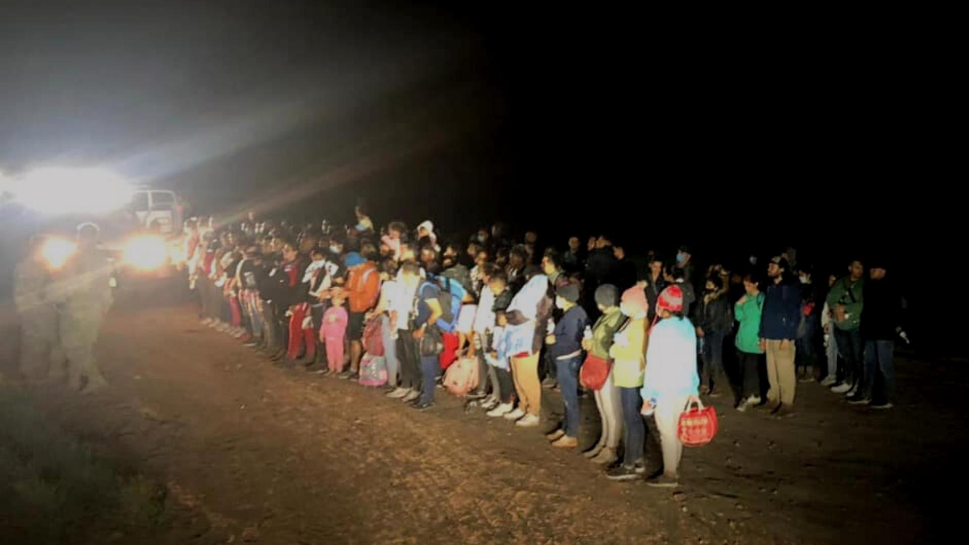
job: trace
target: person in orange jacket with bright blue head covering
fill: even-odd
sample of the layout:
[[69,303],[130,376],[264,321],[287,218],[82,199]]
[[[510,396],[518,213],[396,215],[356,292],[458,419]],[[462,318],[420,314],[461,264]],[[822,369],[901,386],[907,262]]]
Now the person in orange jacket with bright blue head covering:
[[343,260],[347,266],[345,293],[350,309],[347,339],[350,341],[350,369],[340,378],[359,377],[360,358],[363,356],[363,318],[377,304],[380,297],[380,272],[372,261],[357,252],[350,252]]

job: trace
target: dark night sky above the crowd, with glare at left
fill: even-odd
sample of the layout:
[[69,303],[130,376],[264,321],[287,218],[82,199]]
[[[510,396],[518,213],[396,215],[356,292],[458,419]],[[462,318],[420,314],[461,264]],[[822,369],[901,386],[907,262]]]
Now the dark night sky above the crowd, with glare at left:
[[378,223],[732,255],[928,258],[964,231],[953,76],[905,41],[590,6],[81,4],[0,3],[0,170],[103,163],[203,211],[349,221],[363,198]]

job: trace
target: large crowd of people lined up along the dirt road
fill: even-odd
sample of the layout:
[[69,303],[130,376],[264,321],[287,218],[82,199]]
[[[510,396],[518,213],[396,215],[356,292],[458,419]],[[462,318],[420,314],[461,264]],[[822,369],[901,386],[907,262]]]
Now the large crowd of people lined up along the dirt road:
[[744,271],[701,270],[686,246],[641,259],[600,235],[560,251],[536,232],[513,240],[500,223],[443,240],[431,221],[377,230],[356,214],[344,229],[187,221],[203,324],[277,365],[385,386],[417,410],[434,407],[446,373],[460,374],[474,378],[457,393],[488,417],[534,428],[543,388],[557,390],[555,448],[578,447],[578,401],[591,395],[602,433],[583,455],[611,479],[646,477],[651,417],[664,465],[648,476],[654,486],[677,485],[677,422],[701,396],[783,418],[801,381],[892,406],[905,304],[882,262],[865,274],[853,261],[822,287],[790,248]]

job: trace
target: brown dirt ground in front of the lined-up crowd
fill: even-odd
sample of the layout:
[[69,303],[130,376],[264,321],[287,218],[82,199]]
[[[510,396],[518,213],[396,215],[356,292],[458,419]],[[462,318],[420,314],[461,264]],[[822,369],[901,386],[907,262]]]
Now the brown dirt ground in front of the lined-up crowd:
[[[103,394],[32,396],[64,429],[167,483],[177,508],[153,543],[925,543],[954,526],[950,498],[967,480],[956,406],[969,368],[953,362],[900,358],[890,411],[817,384],[798,385],[784,420],[713,400],[721,431],[686,450],[671,491],[611,482],[548,447],[541,432],[561,413],[549,391],[539,430],[440,390],[436,408],[417,412],[273,367],[189,305],[113,310],[97,353]],[[591,396],[582,409],[584,448],[598,433]]]

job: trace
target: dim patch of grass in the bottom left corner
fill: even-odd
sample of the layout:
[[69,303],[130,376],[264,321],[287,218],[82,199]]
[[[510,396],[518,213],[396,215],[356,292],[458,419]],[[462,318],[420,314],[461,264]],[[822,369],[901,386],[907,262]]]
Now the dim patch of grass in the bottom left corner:
[[164,486],[119,471],[0,386],[0,543],[143,541],[167,525],[166,500]]

